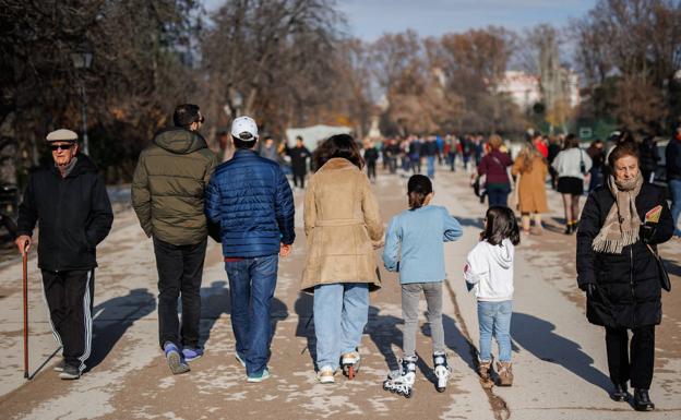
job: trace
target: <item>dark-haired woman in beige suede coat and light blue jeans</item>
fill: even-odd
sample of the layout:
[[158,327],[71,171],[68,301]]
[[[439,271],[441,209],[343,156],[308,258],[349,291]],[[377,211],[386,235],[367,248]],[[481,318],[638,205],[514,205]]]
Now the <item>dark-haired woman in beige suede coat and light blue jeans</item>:
[[339,360],[350,379],[359,368],[369,291],[381,287],[373,250],[382,245],[383,223],[351,136],[330,137],[313,159],[318,172],[304,199],[301,289],[314,293],[318,379],[333,383]]

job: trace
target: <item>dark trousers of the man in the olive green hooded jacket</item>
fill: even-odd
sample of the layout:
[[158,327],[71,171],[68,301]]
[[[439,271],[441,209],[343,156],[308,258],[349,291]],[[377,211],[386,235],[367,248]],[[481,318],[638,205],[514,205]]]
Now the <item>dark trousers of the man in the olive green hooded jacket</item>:
[[[199,346],[205,249],[205,239],[193,245],[174,245],[154,238],[158,269],[158,343],[162,348],[166,341],[190,348]],[[178,298],[182,300],[181,339]]]

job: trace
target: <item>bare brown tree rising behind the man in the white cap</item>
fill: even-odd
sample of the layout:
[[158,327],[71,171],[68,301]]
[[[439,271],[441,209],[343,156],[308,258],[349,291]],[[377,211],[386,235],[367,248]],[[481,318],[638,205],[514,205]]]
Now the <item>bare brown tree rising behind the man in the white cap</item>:
[[216,104],[256,115],[272,131],[306,123],[325,101],[336,27],[328,0],[227,0],[202,43]]

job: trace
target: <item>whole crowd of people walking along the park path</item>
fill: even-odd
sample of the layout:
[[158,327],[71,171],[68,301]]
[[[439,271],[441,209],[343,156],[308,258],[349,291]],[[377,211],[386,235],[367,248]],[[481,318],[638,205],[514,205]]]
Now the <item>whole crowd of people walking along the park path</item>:
[[[216,156],[200,133],[204,117],[198,106],[178,106],[172,120],[174,127],[157,132],[140,155],[132,205],[153,240],[158,344],[174,374],[190,371],[190,363],[203,356],[200,288],[210,236],[222,243],[229,280],[235,359],[248,382],[270,376],[278,262],[290,254],[296,239],[294,193],[283,165],[289,163],[294,187],[304,190],[308,247],[300,289],[314,299],[318,380],[334,383],[338,370],[353,379],[359,370],[369,293],[381,288],[374,250],[384,248],[385,268],[399,273],[405,328],[399,368],[383,387],[407,397],[411,393],[422,293],[437,388],[444,391],[450,368],[442,325],[443,247],[461,238],[463,229],[445,207],[430,202],[437,168],[455,171],[461,157],[489,203],[483,230],[463,268],[478,301],[478,374],[483,386],[492,385],[494,368],[499,385],[513,383],[513,263],[521,228],[511,207],[521,214],[524,235],[541,233],[550,175],[549,188],[563,199],[565,233],[577,232],[577,284],[587,296],[587,319],[606,328],[611,396],[624,399],[631,383],[635,408],[654,408],[648,389],[665,287],[656,245],[680,236],[681,129],[666,149],[670,212],[662,190],[650,183],[658,160],[655,142],[645,137],[637,143],[629,132],[607,152],[600,141],[583,151],[573,134],[547,139],[533,132],[514,158],[497,134],[487,140],[409,135],[370,141],[363,151],[353,136],[338,134],[311,153],[301,137],[294,147],[277,145],[272,137],[261,144],[255,121],[239,117],[228,133],[218,134],[222,156]],[[62,379],[73,380],[91,355],[95,250],[109,233],[113,215],[95,165],[79,151],[77,135],[57,130],[47,143],[52,163],[29,180],[16,247],[25,254],[40,225],[38,266],[50,324],[63,347],[57,370]],[[386,231],[371,187],[381,157],[389,172],[410,175],[406,209],[390,220]],[[310,167],[314,172],[307,180]],[[580,215],[585,183],[590,194]],[[511,192],[515,203],[509,203]],[[631,343],[628,331],[633,332]],[[499,346],[495,367],[492,338]]]

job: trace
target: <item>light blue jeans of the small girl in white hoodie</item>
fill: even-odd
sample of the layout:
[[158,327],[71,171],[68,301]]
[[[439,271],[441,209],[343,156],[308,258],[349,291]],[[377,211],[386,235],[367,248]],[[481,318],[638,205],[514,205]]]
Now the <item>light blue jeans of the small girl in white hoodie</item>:
[[478,301],[478,323],[480,325],[480,360],[492,359],[492,336],[499,345],[499,361],[511,361],[511,314],[513,301]]

